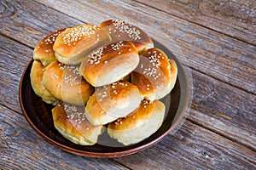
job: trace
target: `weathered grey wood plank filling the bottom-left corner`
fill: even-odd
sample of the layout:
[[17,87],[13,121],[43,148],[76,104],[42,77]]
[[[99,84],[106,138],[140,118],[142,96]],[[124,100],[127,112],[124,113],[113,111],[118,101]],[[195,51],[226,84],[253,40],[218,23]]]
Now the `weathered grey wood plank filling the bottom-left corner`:
[[127,169],[112,159],[76,156],[38,136],[25,117],[0,105],[0,169]]

